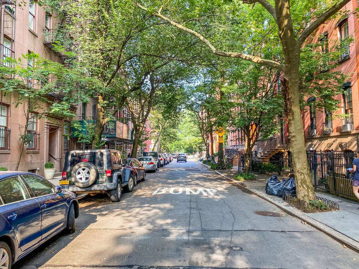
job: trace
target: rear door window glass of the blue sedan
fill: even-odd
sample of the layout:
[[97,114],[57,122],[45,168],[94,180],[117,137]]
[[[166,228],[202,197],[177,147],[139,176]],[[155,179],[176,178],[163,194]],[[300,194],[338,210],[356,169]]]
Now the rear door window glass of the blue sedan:
[[25,185],[18,176],[0,181],[0,196],[4,203],[13,203],[30,198]]

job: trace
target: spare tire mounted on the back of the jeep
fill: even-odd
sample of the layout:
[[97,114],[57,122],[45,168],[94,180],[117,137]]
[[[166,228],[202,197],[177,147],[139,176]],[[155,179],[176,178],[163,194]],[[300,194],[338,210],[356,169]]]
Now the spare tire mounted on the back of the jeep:
[[72,168],[71,181],[79,188],[87,188],[96,182],[97,175],[95,165],[91,162],[83,161]]

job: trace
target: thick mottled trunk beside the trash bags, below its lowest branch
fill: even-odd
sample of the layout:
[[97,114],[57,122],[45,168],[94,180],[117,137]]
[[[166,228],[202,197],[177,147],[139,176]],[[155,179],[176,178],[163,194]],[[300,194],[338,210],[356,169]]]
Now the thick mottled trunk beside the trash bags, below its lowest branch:
[[305,149],[298,82],[299,65],[294,64],[293,66],[289,72],[286,72],[286,78],[283,79],[282,93],[288,120],[290,152],[292,154],[297,197],[309,202],[315,200],[315,193]]

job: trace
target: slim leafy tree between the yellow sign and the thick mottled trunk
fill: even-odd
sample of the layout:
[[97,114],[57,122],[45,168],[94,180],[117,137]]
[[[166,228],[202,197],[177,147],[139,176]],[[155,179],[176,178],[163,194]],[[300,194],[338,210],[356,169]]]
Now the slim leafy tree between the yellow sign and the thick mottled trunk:
[[276,116],[282,116],[283,99],[278,89],[280,73],[272,68],[248,63],[233,67],[229,84],[223,91],[229,93],[231,109],[224,112],[230,118],[233,131],[242,131],[246,137],[245,173],[250,168],[250,157],[258,138],[265,139],[275,133]]

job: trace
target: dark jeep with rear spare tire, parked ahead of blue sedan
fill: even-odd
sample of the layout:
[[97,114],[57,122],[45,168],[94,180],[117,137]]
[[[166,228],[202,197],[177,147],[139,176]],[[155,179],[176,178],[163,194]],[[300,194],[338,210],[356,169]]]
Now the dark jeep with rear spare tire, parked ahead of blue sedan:
[[109,149],[66,152],[61,187],[77,193],[108,193],[119,202],[123,188],[132,192],[135,171],[124,168],[121,152]]

